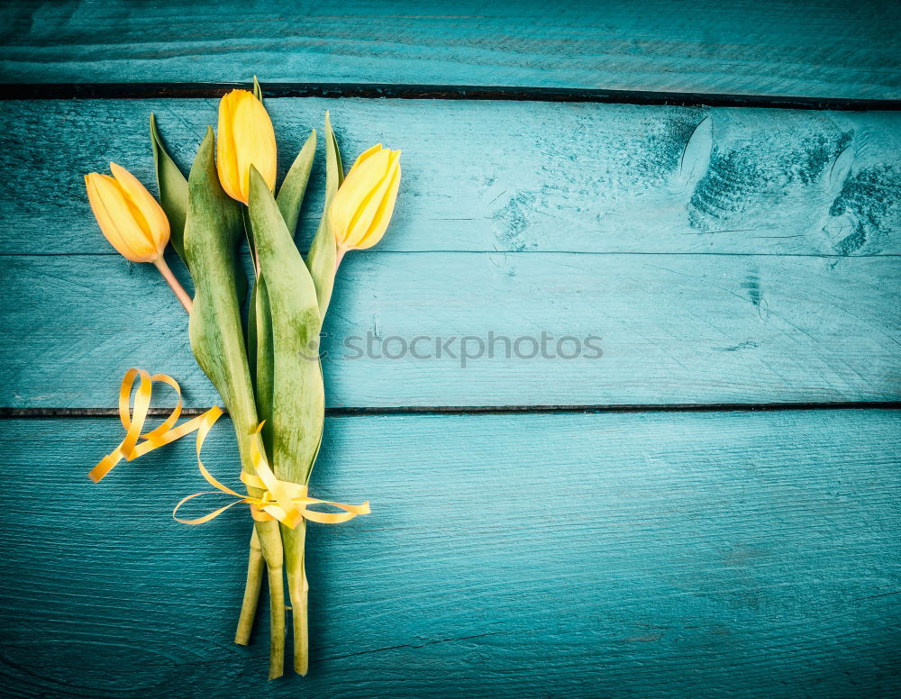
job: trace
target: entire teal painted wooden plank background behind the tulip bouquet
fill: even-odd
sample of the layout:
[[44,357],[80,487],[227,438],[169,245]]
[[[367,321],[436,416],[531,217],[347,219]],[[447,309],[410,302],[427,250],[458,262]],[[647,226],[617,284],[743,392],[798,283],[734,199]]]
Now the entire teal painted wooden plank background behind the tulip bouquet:
[[[0,8],[0,694],[901,694],[896,11],[546,5]],[[268,684],[265,624],[231,642],[247,522],[169,518],[192,446],[85,477],[125,368],[217,400],[82,175],[151,182],[151,111],[187,167],[253,73],[310,95],[267,102],[283,169],[325,109],[345,159],[405,152],[323,340],[314,492],[375,513],[314,528],[313,669]],[[602,356],[345,348],[542,331]],[[225,478],[231,440],[206,452]]]

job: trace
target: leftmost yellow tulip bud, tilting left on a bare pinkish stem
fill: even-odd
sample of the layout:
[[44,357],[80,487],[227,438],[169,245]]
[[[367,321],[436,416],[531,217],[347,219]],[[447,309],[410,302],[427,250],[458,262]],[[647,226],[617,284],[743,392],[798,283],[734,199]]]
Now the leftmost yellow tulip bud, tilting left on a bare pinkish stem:
[[110,163],[113,177],[85,176],[87,198],[100,230],[132,262],[159,259],[169,239],[166,214],[150,192],[125,168]]

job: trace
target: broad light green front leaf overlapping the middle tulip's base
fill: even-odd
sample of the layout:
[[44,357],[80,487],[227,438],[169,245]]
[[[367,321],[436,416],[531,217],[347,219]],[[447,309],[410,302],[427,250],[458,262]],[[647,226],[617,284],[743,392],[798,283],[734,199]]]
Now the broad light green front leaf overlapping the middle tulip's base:
[[[282,480],[306,484],[322,438],[325,410],[316,289],[278,204],[252,167],[248,208],[259,266],[266,279],[272,374],[278,377],[271,400],[272,468]],[[257,297],[259,301],[259,290]],[[259,327],[257,341],[259,344]]]

